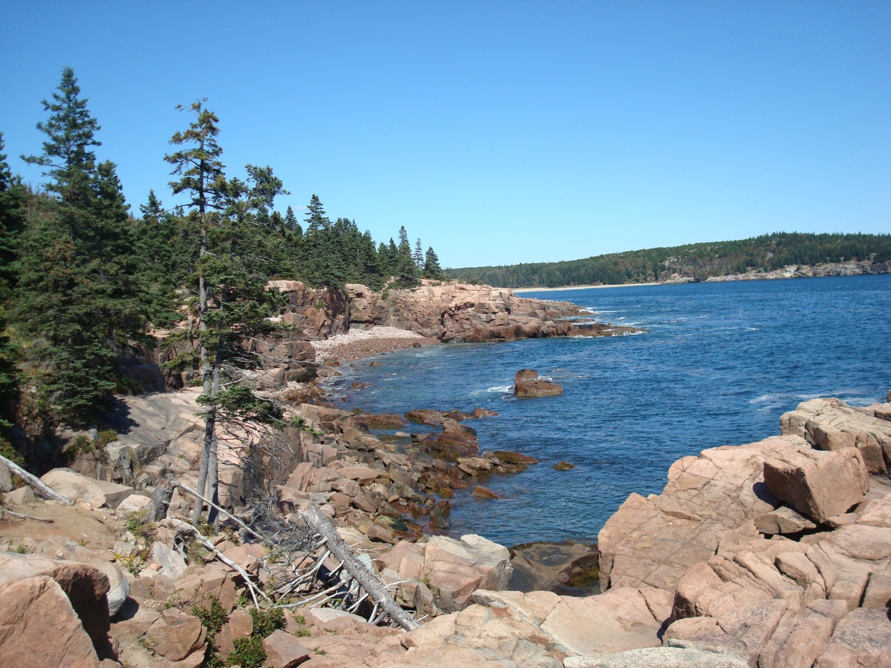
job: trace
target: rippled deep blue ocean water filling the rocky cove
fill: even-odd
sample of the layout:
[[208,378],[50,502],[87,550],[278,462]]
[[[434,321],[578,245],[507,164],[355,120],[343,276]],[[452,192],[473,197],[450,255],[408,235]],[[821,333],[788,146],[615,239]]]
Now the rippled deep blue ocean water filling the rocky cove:
[[[866,405],[891,388],[891,275],[534,296],[649,331],[409,349],[381,355],[380,367],[342,367],[332,384],[349,409],[498,411],[467,422],[480,449],[540,460],[486,481],[503,500],[456,493],[453,535],[509,546],[595,539],[629,493],[659,493],[674,460],[779,434],[781,413],[807,399]],[[513,376],[523,368],[552,378],[564,395],[515,398]],[[353,381],[373,385],[348,391]],[[553,470],[560,460],[576,468]]]

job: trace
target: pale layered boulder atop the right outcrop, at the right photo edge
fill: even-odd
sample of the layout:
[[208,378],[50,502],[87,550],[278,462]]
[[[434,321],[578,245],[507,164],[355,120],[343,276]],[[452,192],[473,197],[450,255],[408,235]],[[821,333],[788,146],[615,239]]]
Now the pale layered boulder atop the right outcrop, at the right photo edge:
[[780,419],[783,434],[804,437],[822,450],[856,447],[870,473],[884,473],[891,463],[891,404],[858,408],[840,399],[812,399]]

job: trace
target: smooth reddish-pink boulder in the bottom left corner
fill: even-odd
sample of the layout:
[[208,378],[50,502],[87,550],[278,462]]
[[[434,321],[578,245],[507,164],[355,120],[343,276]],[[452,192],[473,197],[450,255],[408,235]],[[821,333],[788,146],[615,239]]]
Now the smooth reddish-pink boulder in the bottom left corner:
[[52,577],[0,582],[0,665],[99,668],[93,641]]

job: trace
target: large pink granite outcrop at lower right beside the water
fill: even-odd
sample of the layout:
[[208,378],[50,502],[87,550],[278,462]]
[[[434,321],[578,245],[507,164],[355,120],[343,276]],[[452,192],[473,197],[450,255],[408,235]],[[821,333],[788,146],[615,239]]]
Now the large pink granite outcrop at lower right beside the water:
[[601,587],[674,591],[669,647],[891,664],[891,486],[869,474],[891,458],[888,408],[813,400],[782,416],[786,436],[674,462],[663,493],[601,530]]

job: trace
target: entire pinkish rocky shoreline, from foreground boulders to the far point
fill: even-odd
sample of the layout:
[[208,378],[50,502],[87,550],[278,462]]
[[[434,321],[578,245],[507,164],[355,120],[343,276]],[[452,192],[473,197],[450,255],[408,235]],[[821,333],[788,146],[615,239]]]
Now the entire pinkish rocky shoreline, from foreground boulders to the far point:
[[[393,341],[630,332],[579,324],[590,315],[566,305],[431,285],[393,297],[410,314],[399,323],[413,323],[393,337],[373,329],[394,326],[380,314],[390,296],[275,287],[289,292],[282,319],[301,338],[257,343],[267,368],[241,381],[282,401],[292,426],[218,436],[218,530],[189,524],[197,388],[122,397],[108,420],[118,440],[42,477],[55,500],[0,465],[0,664],[891,665],[891,403],[802,403],[781,436],[676,461],[663,493],[632,494],[596,545],[508,550],[447,535],[454,490],[493,498],[488,477],[536,464],[481,449],[471,425],[496,413],[342,411],[315,379]],[[354,318],[365,334],[334,338]],[[518,395],[558,390],[517,374]],[[336,546],[318,542],[314,512],[407,615],[402,629],[380,625],[379,599],[372,607]]]

